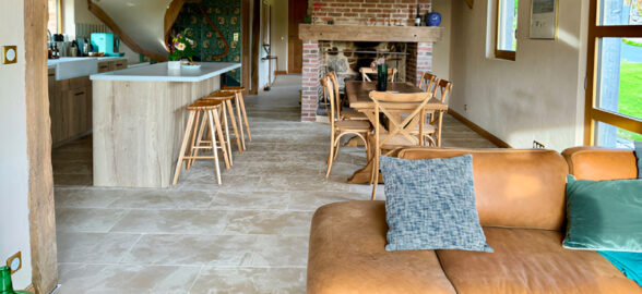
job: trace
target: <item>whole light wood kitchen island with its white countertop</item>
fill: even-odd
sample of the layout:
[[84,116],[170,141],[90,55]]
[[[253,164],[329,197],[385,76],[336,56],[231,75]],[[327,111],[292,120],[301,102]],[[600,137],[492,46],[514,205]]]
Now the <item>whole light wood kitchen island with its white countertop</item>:
[[240,63],[203,62],[197,70],[167,63],[95,74],[94,185],[168,187],[185,127],[186,107],[221,88]]

